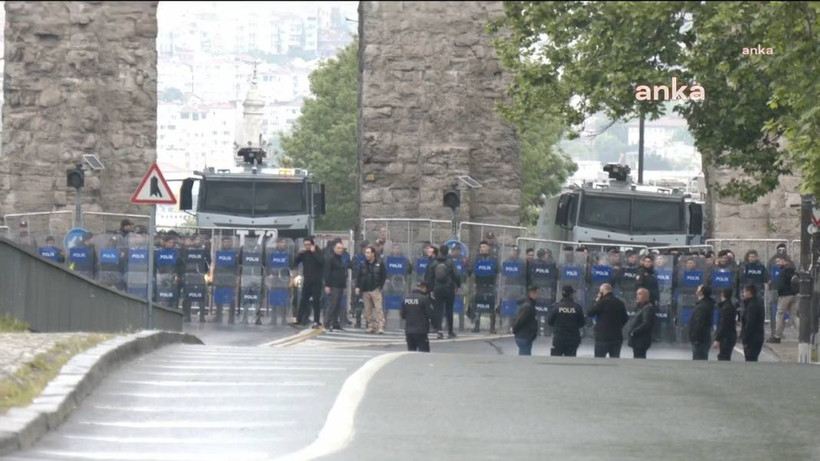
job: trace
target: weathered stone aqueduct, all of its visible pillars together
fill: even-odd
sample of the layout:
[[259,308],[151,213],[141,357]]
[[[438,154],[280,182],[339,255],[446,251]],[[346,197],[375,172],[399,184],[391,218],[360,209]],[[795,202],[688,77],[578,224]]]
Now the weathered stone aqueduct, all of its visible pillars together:
[[[158,2],[5,2],[0,214],[71,209],[65,170],[83,153],[85,207],[128,204],[156,159]],[[447,218],[457,175],[483,184],[461,220],[516,224],[515,130],[493,111],[509,81],[484,24],[501,2],[361,2],[359,191],[362,216]],[[725,172],[709,171],[709,181]],[[797,238],[797,179],[755,205],[711,204],[719,237]]]

